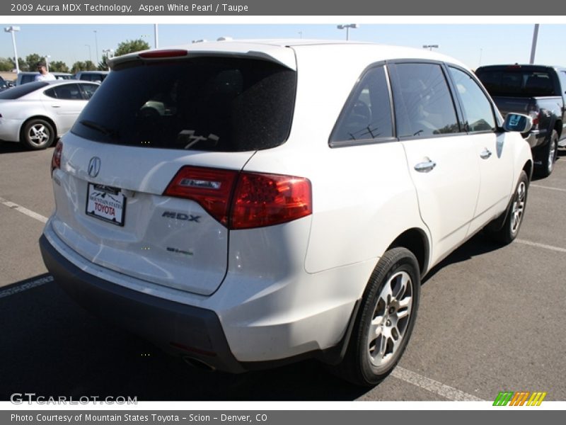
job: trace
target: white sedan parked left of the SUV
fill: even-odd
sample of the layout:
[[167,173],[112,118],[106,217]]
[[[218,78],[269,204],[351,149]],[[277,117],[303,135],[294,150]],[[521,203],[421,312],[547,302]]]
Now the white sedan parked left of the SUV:
[[29,149],[50,147],[73,126],[100,84],[35,81],[0,93],[0,140]]

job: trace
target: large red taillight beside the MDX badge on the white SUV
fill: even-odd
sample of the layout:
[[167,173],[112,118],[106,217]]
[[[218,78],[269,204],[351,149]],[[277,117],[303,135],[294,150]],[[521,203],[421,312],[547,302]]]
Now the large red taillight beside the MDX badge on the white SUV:
[[280,174],[184,166],[163,195],[194,200],[229,229],[279,225],[312,213],[311,182]]

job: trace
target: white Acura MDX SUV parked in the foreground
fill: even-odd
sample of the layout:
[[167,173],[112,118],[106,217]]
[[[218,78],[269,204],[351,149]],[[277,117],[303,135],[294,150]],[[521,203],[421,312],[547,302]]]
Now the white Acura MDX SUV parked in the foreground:
[[54,150],[43,259],[88,310],[192,363],[311,357],[375,385],[422,276],[481,229],[519,232],[530,118],[503,121],[449,57],[226,40],[110,67]]

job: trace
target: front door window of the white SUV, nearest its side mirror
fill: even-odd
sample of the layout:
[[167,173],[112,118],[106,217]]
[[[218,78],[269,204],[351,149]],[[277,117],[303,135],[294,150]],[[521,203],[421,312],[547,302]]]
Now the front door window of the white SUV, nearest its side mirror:
[[468,131],[493,131],[495,118],[490,100],[485,96],[478,83],[470,75],[453,67],[449,67],[454,84],[460,95]]

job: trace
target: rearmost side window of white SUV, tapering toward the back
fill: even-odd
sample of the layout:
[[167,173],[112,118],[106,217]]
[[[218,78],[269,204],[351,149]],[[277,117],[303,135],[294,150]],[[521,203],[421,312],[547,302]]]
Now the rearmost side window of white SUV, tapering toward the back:
[[389,89],[383,67],[370,69],[340,115],[330,142],[393,137]]

